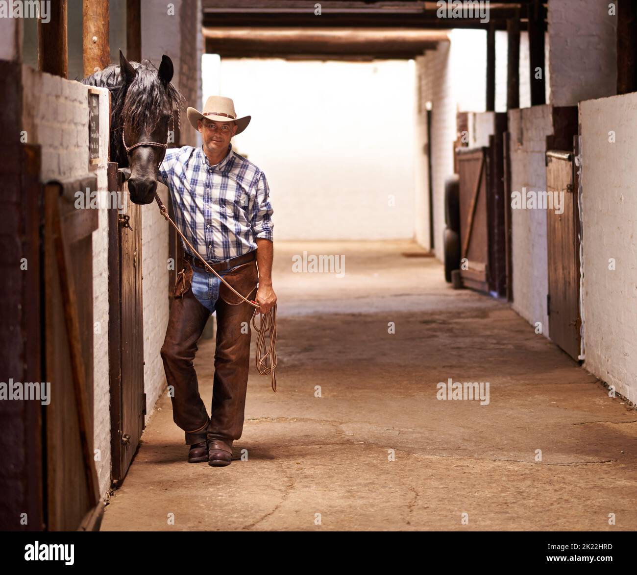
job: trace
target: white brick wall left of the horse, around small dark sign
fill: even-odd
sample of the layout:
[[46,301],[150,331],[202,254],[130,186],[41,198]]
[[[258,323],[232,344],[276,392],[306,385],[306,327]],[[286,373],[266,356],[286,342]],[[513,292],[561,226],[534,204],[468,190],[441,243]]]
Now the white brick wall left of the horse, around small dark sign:
[[[42,149],[43,181],[80,178],[97,173],[97,189],[107,189],[108,90],[100,90],[100,161],[89,167],[88,87],[59,76],[22,67],[24,110],[22,125],[29,143]],[[94,449],[99,490],[111,483],[110,388],[108,381],[108,215],[99,209],[99,227],[93,232],[94,329]]]

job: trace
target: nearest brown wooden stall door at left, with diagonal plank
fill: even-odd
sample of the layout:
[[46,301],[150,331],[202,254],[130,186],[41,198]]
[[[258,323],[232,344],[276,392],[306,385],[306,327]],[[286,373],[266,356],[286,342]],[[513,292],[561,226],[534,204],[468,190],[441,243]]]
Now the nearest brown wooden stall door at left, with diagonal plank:
[[44,207],[43,409],[49,530],[95,529],[103,510],[93,452],[92,232],[96,209],[76,209],[75,190],[97,178],[50,183]]

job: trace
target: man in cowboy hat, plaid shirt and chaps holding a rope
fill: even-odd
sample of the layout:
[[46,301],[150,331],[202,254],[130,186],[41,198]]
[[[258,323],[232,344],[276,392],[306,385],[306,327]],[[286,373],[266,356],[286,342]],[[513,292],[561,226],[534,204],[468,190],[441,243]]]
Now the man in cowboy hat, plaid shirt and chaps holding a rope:
[[[241,295],[252,299],[257,290],[254,299],[266,313],[276,303],[268,181],[261,169],[233,152],[230,143],[246,129],[250,116],[237,118],[233,101],[221,96],[209,97],[203,112],[188,108],[187,116],[201,132],[203,145],[167,150],[158,174],[170,190],[175,222],[196,252]],[[229,465],[233,441],[243,432],[255,308],[208,271],[183,241],[182,245],[184,267],[161,349],[173,420],[190,444],[189,462]],[[192,360],[214,311],[217,347],[208,417]]]

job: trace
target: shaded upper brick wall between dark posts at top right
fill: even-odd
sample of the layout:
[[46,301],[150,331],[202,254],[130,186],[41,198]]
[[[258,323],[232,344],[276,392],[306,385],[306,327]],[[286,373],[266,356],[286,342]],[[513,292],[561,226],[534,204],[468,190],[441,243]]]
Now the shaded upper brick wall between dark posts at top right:
[[[617,16],[601,0],[549,0],[550,102],[617,94]],[[617,3],[613,3],[617,4]]]

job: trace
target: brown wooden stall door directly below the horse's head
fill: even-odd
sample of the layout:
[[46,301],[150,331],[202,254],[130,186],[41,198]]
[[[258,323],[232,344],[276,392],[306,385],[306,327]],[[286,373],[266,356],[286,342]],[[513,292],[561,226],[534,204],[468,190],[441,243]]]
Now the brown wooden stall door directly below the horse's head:
[[[109,188],[120,190],[124,209],[110,209],[109,299],[111,446],[113,481],[120,483],[140,444],[146,414],[141,285],[141,206],[109,164]],[[114,187],[111,187],[114,186]]]

